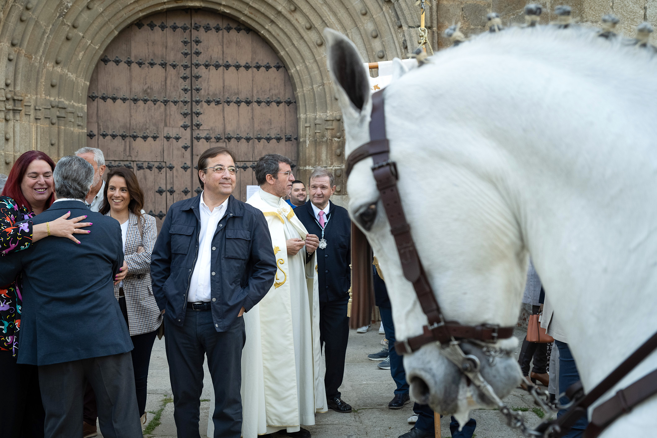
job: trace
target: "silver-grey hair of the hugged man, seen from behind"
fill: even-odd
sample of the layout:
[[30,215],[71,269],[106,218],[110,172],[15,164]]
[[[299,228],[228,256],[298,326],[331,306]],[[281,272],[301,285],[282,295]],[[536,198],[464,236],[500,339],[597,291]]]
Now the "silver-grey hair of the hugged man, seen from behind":
[[93,173],[93,165],[84,158],[74,155],[60,158],[53,172],[57,198],[84,199],[93,183]]

